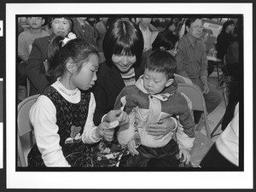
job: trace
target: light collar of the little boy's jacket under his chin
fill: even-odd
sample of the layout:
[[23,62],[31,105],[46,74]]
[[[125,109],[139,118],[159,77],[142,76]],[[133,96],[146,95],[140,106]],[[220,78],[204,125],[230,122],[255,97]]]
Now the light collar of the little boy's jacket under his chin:
[[[174,84],[176,84],[175,82],[173,82]],[[166,90],[164,90],[162,93],[159,94],[155,94],[155,95],[150,95],[148,93],[147,90],[145,90],[144,86],[143,86],[143,75],[140,76],[139,79],[137,79],[137,82],[135,83],[135,85],[137,86],[137,88],[141,91],[143,91],[143,93],[148,94],[149,96],[153,96],[154,98],[157,98],[161,101],[166,101],[170,96],[172,96],[176,89],[175,86],[173,87],[172,85],[167,87]]]

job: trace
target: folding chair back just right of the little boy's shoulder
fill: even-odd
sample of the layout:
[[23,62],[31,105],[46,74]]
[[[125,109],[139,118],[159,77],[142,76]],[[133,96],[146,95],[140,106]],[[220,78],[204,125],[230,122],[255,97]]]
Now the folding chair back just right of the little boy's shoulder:
[[203,124],[206,127],[207,137],[211,138],[211,130],[208,122],[208,113],[205,98],[200,88],[196,84],[178,84],[177,90],[189,97],[192,102],[192,110],[201,111],[201,118],[195,130],[201,131]]

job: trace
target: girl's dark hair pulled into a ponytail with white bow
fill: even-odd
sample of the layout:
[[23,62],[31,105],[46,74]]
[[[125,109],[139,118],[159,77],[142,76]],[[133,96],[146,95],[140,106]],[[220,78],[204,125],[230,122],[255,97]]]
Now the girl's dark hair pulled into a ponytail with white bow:
[[47,78],[53,83],[58,77],[66,72],[66,64],[69,59],[78,65],[78,72],[83,67],[84,61],[88,61],[90,55],[98,55],[96,46],[84,38],[75,38],[67,42],[64,46],[62,36],[53,38],[48,47],[49,70]]

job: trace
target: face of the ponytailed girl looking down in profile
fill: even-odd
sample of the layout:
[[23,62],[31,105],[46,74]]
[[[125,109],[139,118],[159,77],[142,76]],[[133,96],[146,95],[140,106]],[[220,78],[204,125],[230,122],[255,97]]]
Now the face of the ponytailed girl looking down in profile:
[[99,67],[98,55],[90,55],[89,61],[85,61],[79,73],[73,73],[73,84],[81,90],[89,90],[97,79],[96,72]]

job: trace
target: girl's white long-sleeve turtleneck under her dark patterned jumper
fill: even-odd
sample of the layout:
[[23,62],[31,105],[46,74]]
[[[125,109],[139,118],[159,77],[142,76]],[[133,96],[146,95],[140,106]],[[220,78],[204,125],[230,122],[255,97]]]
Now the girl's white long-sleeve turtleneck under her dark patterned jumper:
[[[65,90],[68,93],[75,93],[72,96],[67,96],[60,90],[60,82],[56,81],[53,86],[68,102],[78,103],[81,99],[81,92],[79,90]],[[63,89],[63,85],[61,89]],[[95,97],[90,93],[90,103],[88,110],[88,117],[84,125],[84,132],[82,134],[82,141],[84,143],[96,143],[101,138],[97,138],[96,128],[93,123],[93,115],[96,108]],[[56,125],[56,108],[53,102],[47,96],[38,96],[30,110],[29,117],[34,127],[35,138],[38,149],[42,154],[45,166],[70,166],[65,159],[61,146],[60,136],[57,133],[59,130]]]

